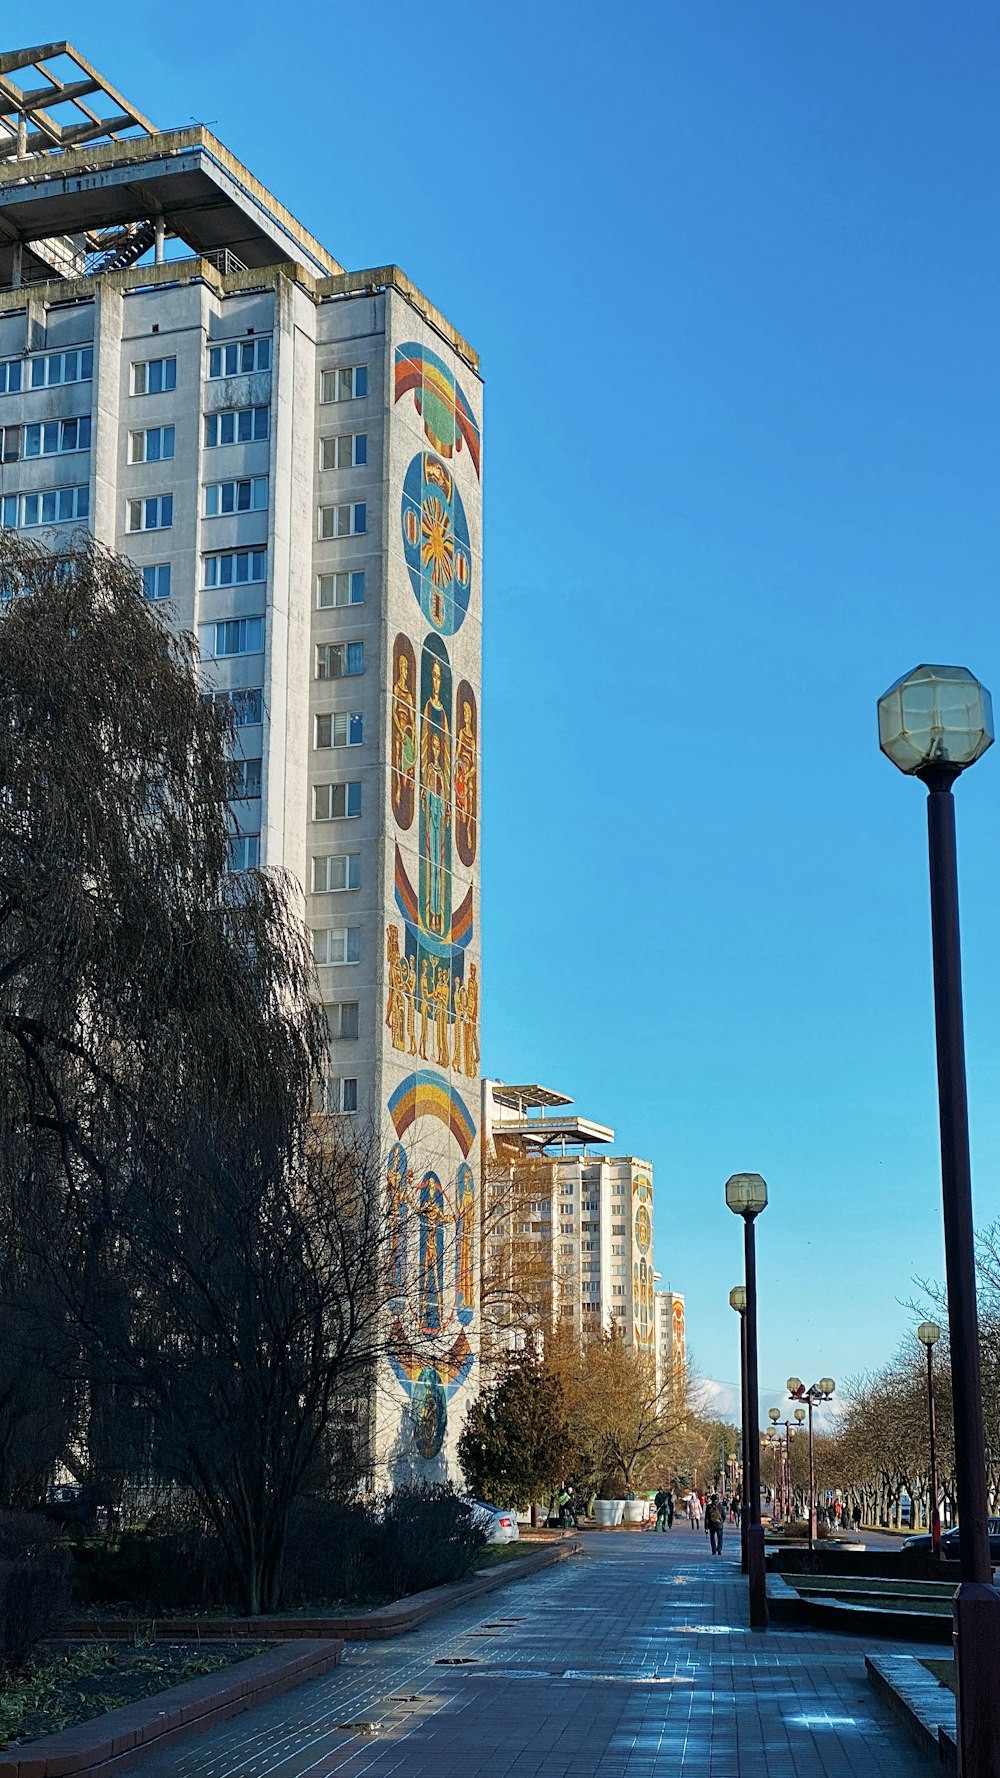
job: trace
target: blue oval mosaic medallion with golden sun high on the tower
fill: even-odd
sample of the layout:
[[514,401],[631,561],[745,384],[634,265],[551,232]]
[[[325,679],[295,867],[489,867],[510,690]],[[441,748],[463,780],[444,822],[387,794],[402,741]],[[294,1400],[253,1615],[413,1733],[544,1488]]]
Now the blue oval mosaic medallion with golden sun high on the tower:
[[456,478],[431,452],[420,452],[406,471],[400,519],[420,610],[440,635],[452,637],[468,612],[472,546]]

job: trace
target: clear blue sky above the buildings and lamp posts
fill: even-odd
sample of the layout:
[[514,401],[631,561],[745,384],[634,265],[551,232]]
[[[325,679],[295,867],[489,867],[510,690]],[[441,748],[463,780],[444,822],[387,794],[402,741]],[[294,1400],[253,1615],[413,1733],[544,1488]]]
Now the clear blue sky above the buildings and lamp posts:
[[[9,0],[199,117],[486,375],[484,1067],[657,1168],[733,1383],[888,1357],[943,1269],[923,793],[875,699],[1000,697],[986,0]],[[311,116],[311,123],[308,117]],[[959,788],[977,1218],[1000,1214],[1000,749]]]

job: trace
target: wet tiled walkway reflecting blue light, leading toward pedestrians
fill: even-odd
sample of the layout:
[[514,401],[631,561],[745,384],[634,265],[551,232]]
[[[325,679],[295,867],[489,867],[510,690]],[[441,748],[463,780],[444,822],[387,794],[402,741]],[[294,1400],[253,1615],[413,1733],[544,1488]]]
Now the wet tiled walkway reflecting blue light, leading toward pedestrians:
[[351,1643],[327,1678],[137,1778],[940,1774],[865,1680],[863,1654],[884,1645],[747,1629],[735,1538],[715,1561],[685,1527],[582,1540],[413,1636]]

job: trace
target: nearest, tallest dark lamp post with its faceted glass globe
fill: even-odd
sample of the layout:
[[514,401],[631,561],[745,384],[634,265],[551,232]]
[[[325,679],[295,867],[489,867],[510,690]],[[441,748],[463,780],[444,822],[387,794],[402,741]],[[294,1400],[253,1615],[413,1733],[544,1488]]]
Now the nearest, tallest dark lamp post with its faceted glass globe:
[[1000,1595],[993,1590],[986,1524],[986,1442],[979,1374],[975,1237],[963,1029],[956,779],[993,743],[993,702],[966,667],[915,667],[879,699],[879,747],[927,788],[931,949],[938,1042],[938,1118],[945,1277],[952,1346],[956,1495],[961,1582],[954,1604],[957,1755],[963,1778],[1000,1778],[1000,1710],[993,1650]]

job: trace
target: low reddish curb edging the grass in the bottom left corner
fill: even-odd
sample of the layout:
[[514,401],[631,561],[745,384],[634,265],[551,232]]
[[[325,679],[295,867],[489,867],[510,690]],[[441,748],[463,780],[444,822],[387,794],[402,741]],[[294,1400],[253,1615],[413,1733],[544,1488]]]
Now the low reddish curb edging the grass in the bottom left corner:
[[91,1723],[7,1748],[0,1753],[0,1778],[112,1778],[146,1753],[158,1753],[319,1678],[340,1664],[342,1654],[343,1643],[333,1639],[269,1648],[221,1673],[123,1703]]

